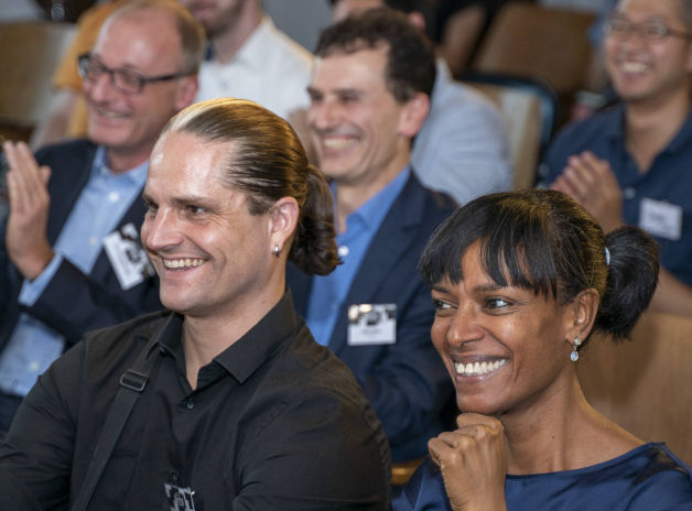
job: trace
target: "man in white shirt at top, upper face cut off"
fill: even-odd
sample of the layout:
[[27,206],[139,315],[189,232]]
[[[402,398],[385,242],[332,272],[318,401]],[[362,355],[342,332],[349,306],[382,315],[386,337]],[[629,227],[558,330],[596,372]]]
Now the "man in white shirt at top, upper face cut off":
[[236,97],[274,113],[309,105],[312,54],[278,30],[259,0],[181,0],[205,28],[197,100]]

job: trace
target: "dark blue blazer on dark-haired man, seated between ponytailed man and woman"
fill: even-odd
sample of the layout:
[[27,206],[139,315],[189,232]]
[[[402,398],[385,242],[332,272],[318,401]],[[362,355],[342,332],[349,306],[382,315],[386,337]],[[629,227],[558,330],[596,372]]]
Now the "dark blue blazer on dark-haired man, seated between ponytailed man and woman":
[[[434,308],[417,264],[432,231],[454,206],[411,173],[365,254],[328,343],[372,403],[393,461],[424,456],[428,439],[451,426],[453,387],[430,340]],[[312,278],[289,264],[286,280],[295,308],[305,315]],[[396,344],[348,346],[348,306],[368,303],[397,304]]]

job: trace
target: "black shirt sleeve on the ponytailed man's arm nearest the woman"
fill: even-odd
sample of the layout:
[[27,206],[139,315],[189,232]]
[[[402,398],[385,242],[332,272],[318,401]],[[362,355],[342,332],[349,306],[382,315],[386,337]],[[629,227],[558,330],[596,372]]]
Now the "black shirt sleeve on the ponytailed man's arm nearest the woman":
[[325,389],[264,403],[272,416],[250,424],[234,468],[234,511],[389,509],[389,450],[371,409]]

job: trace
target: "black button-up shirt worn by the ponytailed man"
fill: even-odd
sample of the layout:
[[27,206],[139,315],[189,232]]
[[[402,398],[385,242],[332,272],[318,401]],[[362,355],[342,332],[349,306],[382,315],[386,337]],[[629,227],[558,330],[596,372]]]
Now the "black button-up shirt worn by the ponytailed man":
[[199,370],[194,391],[182,324],[156,313],[93,333],[40,378],[0,445],[0,509],[67,509],[120,374],[162,328],[89,509],[169,510],[175,491],[194,492],[196,511],[388,509],[381,425],[289,294]]

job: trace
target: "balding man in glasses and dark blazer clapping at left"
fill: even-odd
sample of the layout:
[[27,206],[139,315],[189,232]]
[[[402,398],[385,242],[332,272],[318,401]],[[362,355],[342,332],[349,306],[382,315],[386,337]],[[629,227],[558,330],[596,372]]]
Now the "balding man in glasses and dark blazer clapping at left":
[[176,2],[113,12],[79,57],[88,140],[35,159],[6,142],[10,213],[0,227],[0,427],[39,374],[89,329],[159,308],[139,241],[153,144],[197,90],[204,30]]

